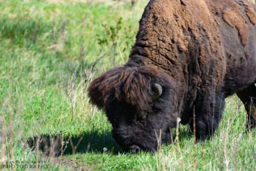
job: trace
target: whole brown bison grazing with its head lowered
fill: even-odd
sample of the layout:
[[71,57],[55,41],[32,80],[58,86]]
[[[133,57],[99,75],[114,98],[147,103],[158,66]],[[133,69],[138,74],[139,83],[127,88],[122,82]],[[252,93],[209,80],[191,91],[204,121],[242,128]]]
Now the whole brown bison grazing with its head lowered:
[[136,38],[128,62],[88,89],[124,149],[156,151],[179,119],[198,140],[212,136],[234,93],[247,110],[247,128],[256,126],[256,6],[150,0]]

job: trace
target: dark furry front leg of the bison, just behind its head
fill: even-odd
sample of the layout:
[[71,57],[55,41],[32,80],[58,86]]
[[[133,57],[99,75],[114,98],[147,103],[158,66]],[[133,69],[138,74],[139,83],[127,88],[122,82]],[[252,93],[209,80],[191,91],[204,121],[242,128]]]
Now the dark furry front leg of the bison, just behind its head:
[[189,125],[197,140],[204,140],[212,136],[218,128],[223,108],[224,97],[221,94],[204,94],[197,100]]

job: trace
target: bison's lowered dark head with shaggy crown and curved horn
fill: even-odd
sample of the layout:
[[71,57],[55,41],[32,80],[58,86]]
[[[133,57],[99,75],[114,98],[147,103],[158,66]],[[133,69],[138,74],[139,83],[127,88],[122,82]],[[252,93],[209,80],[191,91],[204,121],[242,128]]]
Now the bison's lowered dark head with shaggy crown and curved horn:
[[156,151],[177,125],[174,83],[151,67],[120,67],[92,81],[89,96],[105,110],[113,138],[122,148]]

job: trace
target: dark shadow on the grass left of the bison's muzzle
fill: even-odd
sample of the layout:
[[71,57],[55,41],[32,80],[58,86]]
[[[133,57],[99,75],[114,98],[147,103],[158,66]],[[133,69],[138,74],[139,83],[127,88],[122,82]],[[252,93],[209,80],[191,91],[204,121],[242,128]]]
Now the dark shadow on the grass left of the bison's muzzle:
[[123,153],[122,148],[114,141],[110,132],[93,131],[78,136],[41,135],[31,137],[28,144],[34,150],[40,150],[47,156],[60,156],[76,153]]

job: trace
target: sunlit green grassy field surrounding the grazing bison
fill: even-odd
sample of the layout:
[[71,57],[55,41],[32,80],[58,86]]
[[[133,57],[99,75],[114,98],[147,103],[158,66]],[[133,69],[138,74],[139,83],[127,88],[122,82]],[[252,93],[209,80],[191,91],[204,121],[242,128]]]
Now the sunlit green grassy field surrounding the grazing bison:
[[[256,130],[245,133],[236,96],[206,142],[194,145],[186,126],[157,154],[123,153],[112,139],[86,90],[127,61],[146,3],[0,0],[0,170],[8,161],[44,160],[49,168],[39,170],[256,171]],[[66,151],[47,158],[32,150],[27,140],[41,135],[63,137]]]

